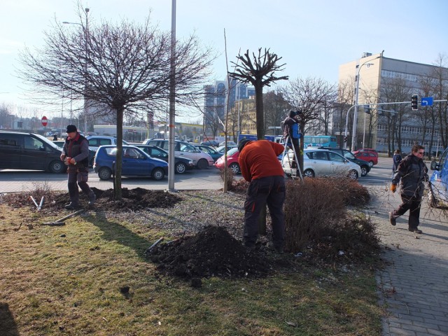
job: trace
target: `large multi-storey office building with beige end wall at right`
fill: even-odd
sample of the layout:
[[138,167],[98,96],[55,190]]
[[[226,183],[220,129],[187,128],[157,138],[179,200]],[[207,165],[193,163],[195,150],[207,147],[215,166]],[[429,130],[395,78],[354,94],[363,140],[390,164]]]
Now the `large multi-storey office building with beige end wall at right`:
[[[399,147],[399,139],[402,151],[407,153],[414,143],[423,144],[435,151],[440,142],[440,124],[434,125],[434,130],[431,131],[433,125],[425,116],[428,107],[419,104],[419,110],[413,111],[410,102],[413,94],[419,94],[419,102],[426,94],[435,94],[424,83],[434,83],[437,73],[448,80],[447,68],[392,59],[384,57],[382,52],[374,55],[365,52],[360,59],[340,65],[339,85],[353,85],[353,101],[347,104],[356,104],[357,100],[358,104],[368,104],[371,108],[358,107],[358,113],[356,109],[351,109],[350,113],[353,114],[346,118],[351,121],[356,114],[358,116],[356,139],[353,141],[355,149],[372,147],[387,153]],[[444,98],[446,99],[446,93]],[[343,101],[339,97],[339,102]],[[403,104],[375,105],[383,102]],[[335,119],[334,130],[344,129],[341,124],[345,124],[346,120]],[[348,131],[351,139],[352,125],[349,125]]]

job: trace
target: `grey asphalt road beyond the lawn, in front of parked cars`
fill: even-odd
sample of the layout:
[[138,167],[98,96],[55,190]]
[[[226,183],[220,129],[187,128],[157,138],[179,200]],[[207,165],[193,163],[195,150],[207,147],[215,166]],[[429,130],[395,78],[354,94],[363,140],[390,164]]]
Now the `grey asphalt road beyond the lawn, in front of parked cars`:
[[[427,163],[429,168],[429,163]],[[430,172],[430,174],[432,174]],[[388,184],[392,179],[392,158],[379,158],[369,174],[359,178],[365,186],[379,186]],[[16,193],[33,190],[36,183],[48,183],[52,190],[66,190],[66,174],[50,174],[31,170],[0,170],[0,193]],[[92,170],[89,175],[89,185],[101,190],[113,188],[111,181],[99,180]],[[123,188],[148,188],[153,190],[167,190],[168,179],[154,181],[150,178],[122,178]],[[193,169],[185,174],[176,174],[174,181],[176,190],[218,190],[223,188],[221,174],[215,167],[209,169]]]

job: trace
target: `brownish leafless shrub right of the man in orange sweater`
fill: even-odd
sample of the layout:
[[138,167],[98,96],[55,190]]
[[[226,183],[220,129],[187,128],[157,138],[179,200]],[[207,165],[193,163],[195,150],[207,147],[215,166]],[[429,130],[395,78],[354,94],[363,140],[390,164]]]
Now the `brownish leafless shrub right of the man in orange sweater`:
[[338,241],[333,244],[335,248],[354,246],[356,241],[370,241],[374,245],[374,229],[365,223],[359,225],[360,221],[349,219],[346,214],[346,205],[362,205],[368,200],[367,189],[351,179],[287,181],[286,249],[300,251],[311,241],[322,241],[322,237],[329,236],[330,240]]

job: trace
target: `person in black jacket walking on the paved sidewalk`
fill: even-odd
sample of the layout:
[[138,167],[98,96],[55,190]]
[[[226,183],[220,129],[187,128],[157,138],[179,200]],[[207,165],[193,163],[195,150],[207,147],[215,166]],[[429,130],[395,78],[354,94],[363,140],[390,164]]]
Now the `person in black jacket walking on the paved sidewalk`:
[[396,225],[396,219],[409,210],[409,231],[423,233],[419,230],[421,197],[425,190],[425,181],[428,181],[428,168],[423,162],[425,148],[414,145],[412,152],[407,155],[398,165],[393,176],[391,191],[395,193],[398,183],[400,184],[400,196],[402,204],[398,209],[389,212],[389,221]]

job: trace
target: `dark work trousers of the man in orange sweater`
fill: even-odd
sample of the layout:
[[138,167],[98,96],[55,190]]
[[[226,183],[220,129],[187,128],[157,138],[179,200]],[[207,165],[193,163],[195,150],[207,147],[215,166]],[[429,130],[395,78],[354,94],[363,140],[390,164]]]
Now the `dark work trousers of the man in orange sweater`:
[[272,242],[276,248],[283,248],[285,222],[283,203],[285,202],[285,179],[283,176],[267,176],[251,181],[244,202],[244,245],[255,246],[258,237],[258,217],[265,205],[272,218]]

